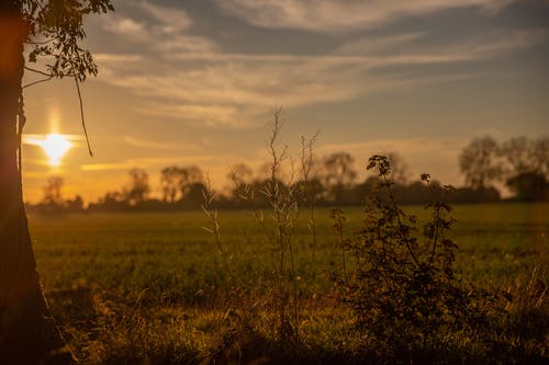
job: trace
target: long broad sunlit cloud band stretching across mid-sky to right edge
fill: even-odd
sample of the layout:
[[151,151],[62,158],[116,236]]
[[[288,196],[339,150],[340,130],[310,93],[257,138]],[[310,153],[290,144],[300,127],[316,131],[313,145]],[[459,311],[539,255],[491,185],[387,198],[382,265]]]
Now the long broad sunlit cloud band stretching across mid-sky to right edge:
[[144,56],[147,62],[131,58],[136,66],[143,65],[143,69],[136,67],[133,71],[124,62],[111,62],[109,70],[114,76],[102,80],[144,96],[144,103],[136,106],[143,114],[204,126],[248,127],[257,125],[258,116],[272,105],[337,102],[390,89],[463,79],[473,72],[460,68],[445,75],[390,70],[493,59],[547,42],[549,32],[502,30],[445,45],[397,47],[424,36],[426,33],[404,33],[352,41],[320,56],[175,52],[156,58],[163,65],[157,69],[150,67],[153,56],[148,55]]

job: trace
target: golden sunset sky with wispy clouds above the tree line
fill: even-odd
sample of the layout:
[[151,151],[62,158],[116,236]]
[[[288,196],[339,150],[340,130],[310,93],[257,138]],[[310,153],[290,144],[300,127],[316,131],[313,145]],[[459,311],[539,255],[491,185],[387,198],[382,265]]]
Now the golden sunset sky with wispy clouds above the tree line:
[[547,0],[113,5],[85,23],[99,65],[81,85],[93,157],[74,81],[25,89],[27,136],[67,134],[74,145],[57,166],[24,145],[26,201],[40,201],[52,175],[66,197],[96,201],[132,168],[158,194],[159,171],[173,164],[201,167],[221,189],[231,166],[265,163],[274,107],[292,153],[318,132],[316,155],[351,153],[361,179],[371,155],[396,152],[413,175],[459,186],[471,139],[549,134]]

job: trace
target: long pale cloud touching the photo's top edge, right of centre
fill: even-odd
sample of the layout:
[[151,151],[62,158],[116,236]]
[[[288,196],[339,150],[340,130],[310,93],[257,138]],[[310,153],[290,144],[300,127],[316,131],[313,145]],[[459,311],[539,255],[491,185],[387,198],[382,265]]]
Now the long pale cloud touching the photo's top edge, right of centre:
[[320,33],[383,26],[397,19],[477,7],[492,14],[511,0],[216,0],[220,9],[256,26]]

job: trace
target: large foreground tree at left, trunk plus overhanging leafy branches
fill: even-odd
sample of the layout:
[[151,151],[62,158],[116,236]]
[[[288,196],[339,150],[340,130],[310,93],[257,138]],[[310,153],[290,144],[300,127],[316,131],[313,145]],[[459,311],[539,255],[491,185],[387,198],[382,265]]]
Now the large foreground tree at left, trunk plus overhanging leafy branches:
[[[80,47],[83,16],[113,10],[110,0],[2,0],[0,2],[0,363],[69,364],[40,285],[23,204],[21,135],[24,70],[44,80],[71,77],[78,87],[97,75]],[[25,67],[47,56],[44,70]]]

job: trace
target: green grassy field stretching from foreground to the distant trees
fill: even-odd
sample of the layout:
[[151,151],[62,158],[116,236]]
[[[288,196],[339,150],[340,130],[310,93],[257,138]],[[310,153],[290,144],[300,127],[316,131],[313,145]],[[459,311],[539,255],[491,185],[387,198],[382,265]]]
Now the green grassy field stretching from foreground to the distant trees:
[[[426,218],[422,207],[407,209]],[[361,210],[346,209],[348,235],[360,227]],[[463,280],[513,293],[535,280],[549,283],[549,204],[463,205],[455,207],[455,217],[450,235]],[[293,236],[300,358],[354,358],[360,337],[349,310],[330,295],[341,260],[328,210],[316,212],[314,265],[309,217],[302,218]],[[220,212],[219,221],[225,259],[201,212],[30,217],[46,297],[83,364],[192,364],[208,356],[213,363],[212,354],[221,352],[226,363],[243,352],[251,360],[257,349],[269,353],[276,246],[250,213]],[[240,339],[235,350],[232,335],[245,320],[261,340]]]

